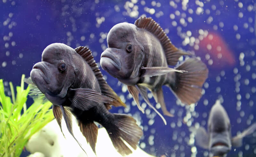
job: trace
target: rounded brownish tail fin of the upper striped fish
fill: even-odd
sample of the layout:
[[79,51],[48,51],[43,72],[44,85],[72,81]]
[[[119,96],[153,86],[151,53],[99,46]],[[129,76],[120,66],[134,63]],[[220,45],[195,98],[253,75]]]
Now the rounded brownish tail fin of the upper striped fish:
[[202,96],[202,86],[208,77],[208,68],[206,65],[196,59],[189,58],[176,69],[185,70],[185,73],[175,73],[175,83],[170,87],[182,103],[196,103]]

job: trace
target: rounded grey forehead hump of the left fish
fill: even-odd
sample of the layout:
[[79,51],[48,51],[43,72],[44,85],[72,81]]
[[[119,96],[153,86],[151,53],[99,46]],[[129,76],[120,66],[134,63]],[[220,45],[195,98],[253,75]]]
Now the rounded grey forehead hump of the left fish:
[[65,56],[70,56],[75,53],[75,50],[65,44],[62,43],[53,43],[48,45],[43,53],[42,53],[42,60],[45,59],[61,59]]

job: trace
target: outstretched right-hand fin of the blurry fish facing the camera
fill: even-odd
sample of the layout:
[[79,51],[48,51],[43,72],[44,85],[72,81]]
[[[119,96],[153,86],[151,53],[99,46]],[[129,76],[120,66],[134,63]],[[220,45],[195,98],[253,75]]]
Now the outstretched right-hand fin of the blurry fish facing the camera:
[[236,135],[232,138],[232,146],[240,147],[243,145],[243,138],[247,135],[252,134],[256,130],[256,123],[253,123],[249,128],[244,130],[240,135]]

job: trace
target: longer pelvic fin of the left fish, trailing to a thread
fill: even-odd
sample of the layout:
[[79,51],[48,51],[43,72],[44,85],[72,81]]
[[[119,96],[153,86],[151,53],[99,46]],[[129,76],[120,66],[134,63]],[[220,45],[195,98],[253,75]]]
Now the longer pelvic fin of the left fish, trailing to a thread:
[[[73,138],[76,140],[76,142],[79,144],[79,146],[82,148],[81,144],[77,141],[77,139],[75,138],[73,131],[72,131],[72,113],[70,112],[69,109],[64,108],[62,105],[60,105],[60,109],[63,115],[63,118],[66,122],[67,128],[68,128],[68,132],[73,136]],[[82,148],[83,149],[83,148]],[[84,149],[83,149],[84,151]],[[86,153],[84,151],[84,153]],[[86,153],[87,155],[87,153]]]

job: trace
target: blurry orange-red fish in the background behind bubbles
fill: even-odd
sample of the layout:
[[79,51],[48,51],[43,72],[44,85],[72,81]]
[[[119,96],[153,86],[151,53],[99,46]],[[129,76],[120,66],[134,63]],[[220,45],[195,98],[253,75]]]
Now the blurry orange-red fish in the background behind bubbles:
[[[196,54],[201,54],[208,60],[208,64],[214,68],[223,66],[232,67],[235,65],[235,56],[228,47],[227,42],[216,32],[209,32],[208,35],[199,42],[199,49]],[[202,56],[202,54],[205,54]],[[210,58],[207,56],[210,55]],[[212,61],[211,61],[212,60]]]

